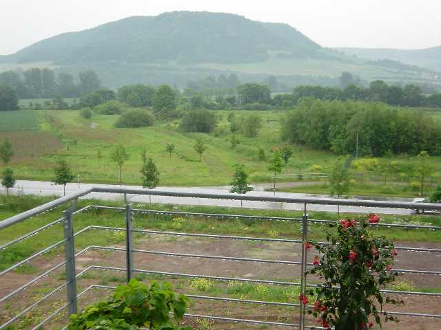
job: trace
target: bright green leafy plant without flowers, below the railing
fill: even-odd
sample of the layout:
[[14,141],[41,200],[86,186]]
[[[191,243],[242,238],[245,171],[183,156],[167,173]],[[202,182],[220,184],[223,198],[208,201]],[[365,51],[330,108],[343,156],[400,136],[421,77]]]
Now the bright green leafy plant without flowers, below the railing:
[[[136,279],[116,288],[112,298],[89,305],[70,316],[69,330],[189,330],[180,323],[189,300],[172,291],[170,283],[152,281],[145,285]],[[170,318],[170,312],[174,317]]]

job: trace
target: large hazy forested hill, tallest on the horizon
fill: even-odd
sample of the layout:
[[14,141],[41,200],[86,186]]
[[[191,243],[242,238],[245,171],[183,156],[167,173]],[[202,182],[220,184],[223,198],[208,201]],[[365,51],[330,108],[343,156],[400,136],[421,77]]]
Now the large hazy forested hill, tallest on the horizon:
[[321,49],[287,24],[251,21],[235,14],[167,12],[59,34],[1,56],[0,61],[248,63],[265,61],[269,51],[305,58],[320,56]]

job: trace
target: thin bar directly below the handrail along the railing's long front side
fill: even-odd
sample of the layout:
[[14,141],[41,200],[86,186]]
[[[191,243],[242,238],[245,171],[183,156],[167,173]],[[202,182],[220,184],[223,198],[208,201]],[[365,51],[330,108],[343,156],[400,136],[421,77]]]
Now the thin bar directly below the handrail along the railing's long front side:
[[[124,210],[124,208],[118,208],[114,206],[99,206],[91,205],[90,208],[103,209],[103,210]],[[201,212],[178,212],[178,211],[159,211],[159,210],[145,210],[141,208],[134,208],[134,212],[141,212],[146,214],[164,214],[164,215],[181,215],[181,216],[194,216],[194,217],[213,217],[213,218],[231,218],[231,219],[255,219],[255,220],[274,220],[274,221],[302,221],[302,218],[291,217],[263,217],[254,215],[243,214],[216,214],[216,213],[201,213]],[[308,219],[311,223],[336,223],[336,220],[322,220],[322,219]],[[397,228],[418,228],[418,229],[432,229],[441,230],[441,226],[435,225],[411,225],[411,224],[396,224],[396,223],[370,223],[370,227],[397,227]]]

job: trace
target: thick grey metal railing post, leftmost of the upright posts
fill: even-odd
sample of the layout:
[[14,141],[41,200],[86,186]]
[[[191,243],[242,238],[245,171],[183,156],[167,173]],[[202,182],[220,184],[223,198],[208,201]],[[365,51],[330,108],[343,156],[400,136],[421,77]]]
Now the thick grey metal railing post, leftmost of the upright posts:
[[63,211],[64,254],[66,261],[66,282],[68,283],[68,304],[69,315],[76,314],[78,305],[76,302],[76,272],[75,272],[75,244],[74,244],[74,226],[72,223],[73,208]]

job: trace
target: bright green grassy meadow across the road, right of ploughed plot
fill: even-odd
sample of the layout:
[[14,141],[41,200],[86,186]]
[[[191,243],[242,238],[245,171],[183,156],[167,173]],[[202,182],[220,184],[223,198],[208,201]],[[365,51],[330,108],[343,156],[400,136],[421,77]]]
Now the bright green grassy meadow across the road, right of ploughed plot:
[[[240,111],[236,115],[250,112]],[[21,178],[50,180],[53,177],[54,162],[58,155],[63,155],[72,165],[74,174],[81,175],[82,181],[116,183],[119,170],[111,162],[110,153],[117,143],[123,143],[130,153],[129,161],[123,166],[123,181],[127,184],[140,184],[140,152],[143,146],[146,146],[148,157],[154,158],[161,172],[161,185],[229,184],[233,165],[236,163],[245,164],[254,179],[265,180],[270,178],[266,170],[267,164],[256,159],[256,151],[258,147],[262,147],[269,153],[270,148],[281,143],[278,133],[280,113],[260,112],[265,125],[258,137],[247,138],[238,135],[241,144],[234,150],[229,144],[230,133],[220,137],[204,134],[208,149],[200,163],[198,155],[193,150],[194,140],[198,134],[178,132],[176,126],[157,122],[154,127],[143,129],[115,129],[113,123],[117,116],[94,115],[91,120],[84,120],[80,117],[79,111],[50,111],[50,113],[63,125],[64,135],[78,140],[78,146],[76,149],[71,148],[70,151],[65,148],[60,149],[57,155],[45,155],[33,164],[14,164],[16,173]],[[217,113],[222,113],[222,124],[227,126],[228,111],[217,111]],[[92,128],[92,123],[98,126]],[[172,155],[172,160],[165,152],[166,143],[175,145],[176,153]],[[100,166],[96,157],[98,150],[101,150],[103,155]],[[300,148],[295,150],[298,157],[290,162],[287,168],[290,173],[300,168],[307,169],[313,164],[322,164],[326,169],[329,162],[335,158],[318,151],[300,151]]]

